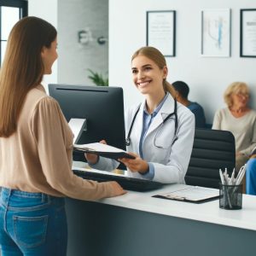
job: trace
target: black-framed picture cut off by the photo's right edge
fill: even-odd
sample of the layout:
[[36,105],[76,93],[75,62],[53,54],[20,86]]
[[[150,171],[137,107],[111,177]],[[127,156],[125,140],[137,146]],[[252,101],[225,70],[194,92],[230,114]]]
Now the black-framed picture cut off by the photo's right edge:
[[240,56],[256,57],[256,9],[240,10]]

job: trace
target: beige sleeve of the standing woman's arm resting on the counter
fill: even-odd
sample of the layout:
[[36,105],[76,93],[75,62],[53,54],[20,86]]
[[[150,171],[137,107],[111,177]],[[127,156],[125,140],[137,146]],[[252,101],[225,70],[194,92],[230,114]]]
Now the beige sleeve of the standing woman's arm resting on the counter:
[[81,200],[113,196],[110,183],[96,183],[73,174],[67,154],[73,149],[72,141],[69,145],[67,142],[70,130],[54,99],[44,97],[38,102],[31,125],[42,171],[53,189]]

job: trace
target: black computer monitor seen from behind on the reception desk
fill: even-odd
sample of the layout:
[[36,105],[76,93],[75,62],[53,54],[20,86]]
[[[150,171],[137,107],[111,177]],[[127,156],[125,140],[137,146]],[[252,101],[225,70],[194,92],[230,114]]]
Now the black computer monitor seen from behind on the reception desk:
[[[109,145],[125,150],[122,88],[49,84],[49,96],[59,102],[67,122],[70,119],[86,119],[86,131],[82,132],[78,144],[105,139]],[[85,161],[81,153],[74,153],[73,159]]]

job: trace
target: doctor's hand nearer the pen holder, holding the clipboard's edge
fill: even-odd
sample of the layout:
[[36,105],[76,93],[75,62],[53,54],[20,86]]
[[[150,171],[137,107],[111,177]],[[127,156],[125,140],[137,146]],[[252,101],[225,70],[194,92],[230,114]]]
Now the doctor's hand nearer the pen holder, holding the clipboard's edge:
[[131,172],[140,172],[142,174],[148,172],[149,167],[147,161],[143,160],[135,153],[129,152],[129,154],[135,156],[135,159],[119,158],[119,161],[129,168]]

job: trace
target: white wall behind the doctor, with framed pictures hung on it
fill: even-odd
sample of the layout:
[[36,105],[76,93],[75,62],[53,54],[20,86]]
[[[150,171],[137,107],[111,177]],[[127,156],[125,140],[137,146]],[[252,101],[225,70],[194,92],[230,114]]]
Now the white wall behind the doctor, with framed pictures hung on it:
[[[201,9],[231,9],[231,57],[201,57]],[[256,108],[256,59],[241,58],[240,9],[256,8],[254,0],[109,0],[109,84],[124,88],[125,108],[142,99],[131,81],[131,55],[146,44],[146,11],[176,10],[176,57],[166,58],[168,80],[189,84],[191,101],[205,108],[207,123],[223,108],[224,89],[247,82]]]

